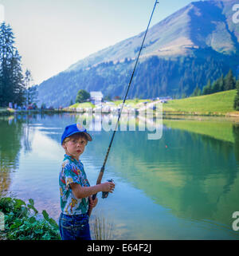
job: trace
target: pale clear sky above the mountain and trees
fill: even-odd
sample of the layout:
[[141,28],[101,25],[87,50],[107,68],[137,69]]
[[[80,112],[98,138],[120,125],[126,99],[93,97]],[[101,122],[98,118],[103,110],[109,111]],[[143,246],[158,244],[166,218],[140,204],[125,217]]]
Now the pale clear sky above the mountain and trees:
[[[190,0],[159,0],[151,26]],[[0,0],[0,22],[10,24],[22,70],[33,83],[53,77],[100,49],[147,28],[155,0]]]

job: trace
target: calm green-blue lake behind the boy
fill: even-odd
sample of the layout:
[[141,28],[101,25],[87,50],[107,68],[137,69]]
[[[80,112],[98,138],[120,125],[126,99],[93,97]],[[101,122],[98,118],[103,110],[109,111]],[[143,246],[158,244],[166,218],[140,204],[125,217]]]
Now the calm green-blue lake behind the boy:
[[[60,215],[61,134],[79,115],[0,117],[0,191],[53,219]],[[90,132],[80,156],[94,185],[112,132]],[[113,225],[113,239],[239,239],[239,125],[225,120],[163,120],[160,140],[148,131],[118,131],[104,172],[116,189],[92,212]],[[239,217],[239,216],[238,216]]]

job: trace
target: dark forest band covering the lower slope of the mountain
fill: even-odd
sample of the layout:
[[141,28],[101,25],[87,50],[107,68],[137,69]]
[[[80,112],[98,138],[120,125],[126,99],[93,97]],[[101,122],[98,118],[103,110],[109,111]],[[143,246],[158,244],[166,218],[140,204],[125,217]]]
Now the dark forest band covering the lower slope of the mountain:
[[[198,50],[199,51],[199,50]],[[205,51],[205,52],[204,52]],[[152,56],[139,61],[128,98],[153,99],[172,96],[175,99],[190,96],[195,85],[205,85],[228,73],[235,66],[235,57],[200,49],[194,57],[163,59]],[[216,55],[215,55],[216,54]],[[123,97],[130,81],[135,61],[104,62],[86,69],[59,73],[44,81],[38,88],[39,100],[54,106],[68,106],[79,89],[101,91],[105,96]],[[57,95],[57,97],[56,97]]]

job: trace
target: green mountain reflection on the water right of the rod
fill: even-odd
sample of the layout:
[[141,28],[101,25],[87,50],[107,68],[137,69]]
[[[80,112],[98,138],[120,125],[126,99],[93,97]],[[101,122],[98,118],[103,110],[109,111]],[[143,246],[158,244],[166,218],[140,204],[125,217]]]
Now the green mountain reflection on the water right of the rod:
[[[229,225],[239,192],[233,145],[218,142],[220,147],[214,148],[217,143],[205,140],[195,140],[182,131],[164,131],[160,141],[145,140],[140,132],[122,132],[109,163],[121,177],[174,215]],[[92,152],[100,152],[101,146],[106,146],[104,138]],[[224,152],[227,158],[221,157]]]

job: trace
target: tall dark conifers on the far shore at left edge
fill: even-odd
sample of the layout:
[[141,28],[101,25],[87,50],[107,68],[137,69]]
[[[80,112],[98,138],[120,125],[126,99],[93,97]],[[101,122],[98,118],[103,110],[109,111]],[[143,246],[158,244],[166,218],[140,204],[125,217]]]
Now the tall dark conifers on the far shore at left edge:
[[37,100],[37,86],[30,86],[33,78],[29,69],[22,71],[22,57],[14,38],[11,26],[3,22],[0,26],[0,107],[10,102],[29,105]]

